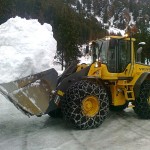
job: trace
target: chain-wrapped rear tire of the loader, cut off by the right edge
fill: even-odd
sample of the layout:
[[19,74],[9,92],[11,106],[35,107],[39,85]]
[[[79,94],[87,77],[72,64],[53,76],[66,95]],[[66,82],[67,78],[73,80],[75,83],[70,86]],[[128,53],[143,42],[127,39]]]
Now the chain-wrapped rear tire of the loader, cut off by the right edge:
[[150,119],[150,81],[144,81],[140,88],[140,95],[134,102],[135,113],[142,119]]

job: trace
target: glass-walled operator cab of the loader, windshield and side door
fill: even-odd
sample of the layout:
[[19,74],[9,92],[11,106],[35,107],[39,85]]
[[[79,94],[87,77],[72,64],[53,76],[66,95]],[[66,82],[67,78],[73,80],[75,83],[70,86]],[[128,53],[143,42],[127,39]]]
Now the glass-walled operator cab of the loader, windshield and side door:
[[100,60],[111,73],[120,73],[131,63],[131,41],[126,38],[104,38],[92,42],[92,61]]

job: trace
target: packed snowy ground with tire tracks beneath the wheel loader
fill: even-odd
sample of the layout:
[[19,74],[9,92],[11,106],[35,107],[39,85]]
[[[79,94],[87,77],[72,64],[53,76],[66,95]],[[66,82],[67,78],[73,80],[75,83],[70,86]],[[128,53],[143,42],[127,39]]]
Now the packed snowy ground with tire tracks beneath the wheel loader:
[[48,115],[23,115],[0,95],[0,150],[149,150],[150,120],[110,112],[97,129],[76,130]]

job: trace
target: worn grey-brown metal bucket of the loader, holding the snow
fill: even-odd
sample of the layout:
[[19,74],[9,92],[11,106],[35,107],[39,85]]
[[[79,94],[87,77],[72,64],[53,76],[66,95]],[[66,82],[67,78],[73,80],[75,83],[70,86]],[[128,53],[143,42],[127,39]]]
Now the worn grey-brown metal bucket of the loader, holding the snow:
[[51,91],[56,88],[58,73],[55,69],[0,84],[0,92],[26,115],[46,113]]

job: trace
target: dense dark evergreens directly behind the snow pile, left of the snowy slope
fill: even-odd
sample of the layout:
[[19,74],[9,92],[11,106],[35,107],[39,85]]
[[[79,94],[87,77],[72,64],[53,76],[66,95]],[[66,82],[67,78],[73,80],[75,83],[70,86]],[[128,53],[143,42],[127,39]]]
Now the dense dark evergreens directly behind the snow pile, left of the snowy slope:
[[79,45],[105,33],[95,18],[85,19],[60,0],[0,0],[0,4],[0,23],[17,15],[51,24],[58,55],[63,52],[66,63],[80,56]]

